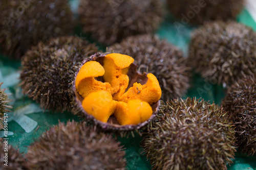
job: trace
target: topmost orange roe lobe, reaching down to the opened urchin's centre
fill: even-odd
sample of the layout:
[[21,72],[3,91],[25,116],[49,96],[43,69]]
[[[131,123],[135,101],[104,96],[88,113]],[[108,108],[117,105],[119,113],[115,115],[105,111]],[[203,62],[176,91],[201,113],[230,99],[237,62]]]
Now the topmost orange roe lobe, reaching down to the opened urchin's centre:
[[134,62],[130,56],[122,54],[108,54],[103,61],[105,82],[109,82],[113,88],[113,99],[117,100],[129,85],[129,77],[126,75],[129,66]]

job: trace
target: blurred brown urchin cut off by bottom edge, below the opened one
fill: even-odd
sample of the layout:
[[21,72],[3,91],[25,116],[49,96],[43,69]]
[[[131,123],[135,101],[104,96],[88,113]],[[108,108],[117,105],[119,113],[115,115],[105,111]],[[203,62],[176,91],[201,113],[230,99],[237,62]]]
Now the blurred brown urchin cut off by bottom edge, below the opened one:
[[111,134],[85,124],[59,123],[29,146],[28,169],[125,169],[125,152]]

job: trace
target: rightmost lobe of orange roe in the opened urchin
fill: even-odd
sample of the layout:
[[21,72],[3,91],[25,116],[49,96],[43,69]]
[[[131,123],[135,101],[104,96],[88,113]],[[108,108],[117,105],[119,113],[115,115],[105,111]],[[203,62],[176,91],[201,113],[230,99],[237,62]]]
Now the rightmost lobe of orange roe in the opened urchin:
[[157,78],[153,74],[147,75],[147,82],[144,85],[134,83],[133,87],[129,88],[119,99],[122,102],[139,99],[152,105],[160,100],[162,91]]

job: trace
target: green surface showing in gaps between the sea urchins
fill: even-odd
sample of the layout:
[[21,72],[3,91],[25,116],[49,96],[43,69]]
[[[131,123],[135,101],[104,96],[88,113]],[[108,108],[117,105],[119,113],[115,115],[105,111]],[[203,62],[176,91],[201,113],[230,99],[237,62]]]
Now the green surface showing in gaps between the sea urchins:
[[[76,10],[77,1],[71,1],[71,6],[73,10]],[[256,23],[246,9],[241,12],[237,20],[256,30]],[[156,34],[159,35],[160,38],[165,38],[169,42],[179,46],[184,51],[184,54],[187,55],[189,35],[196,27],[185,26],[178,31],[174,25],[174,21],[174,18],[168,14]],[[86,37],[93,41],[90,35],[81,34],[80,27],[77,27],[76,35],[82,38]],[[100,45],[100,47],[102,50],[105,49],[103,45]],[[8,136],[9,144],[12,144],[15,148],[19,148],[20,152],[26,153],[27,146],[52,125],[57,125],[58,121],[67,122],[69,119],[79,121],[79,119],[70,112],[59,113],[48,110],[44,111],[39,108],[38,104],[24,96],[22,89],[17,86],[19,83],[19,68],[20,61],[12,61],[0,55],[0,82],[5,82],[3,87],[9,88],[7,92],[12,93],[10,98],[13,100],[13,110],[12,113],[9,113],[10,119],[8,124],[10,134]],[[199,75],[194,74],[191,80],[191,87],[184,98],[187,96],[196,96],[197,98],[203,98],[207,101],[220,104],[224,95],[225,89],[221,86],[209,84]],[[25,129],[30,132],[26,132]],[[0,136],[2,134],[3,131],[0,131]],[[119,138],[119,141],[121,141],[126,148],[127,169],[151,169],[151,164],[147,161],[145,155],[141,154],[143,149],[140,147],[140,140],[141,137],[139,136],[135,138],[130,137],[128,139]],[[237,152],[235,158],[234,163],[228,166],[229,170],[256,169],[256,156],[247,157]]]

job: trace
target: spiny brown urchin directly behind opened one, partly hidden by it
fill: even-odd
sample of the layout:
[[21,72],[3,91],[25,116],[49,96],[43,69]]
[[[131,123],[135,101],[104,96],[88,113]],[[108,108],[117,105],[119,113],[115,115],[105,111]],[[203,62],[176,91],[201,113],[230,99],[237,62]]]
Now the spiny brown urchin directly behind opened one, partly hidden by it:
[[187,60],[176,46],[153,35],[131,36],[108,48],[135,59],[140,72],[152,72],[163,91],[162,100],[181,97],[189,87]]

